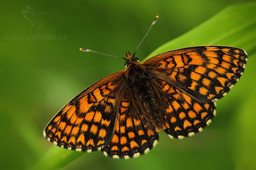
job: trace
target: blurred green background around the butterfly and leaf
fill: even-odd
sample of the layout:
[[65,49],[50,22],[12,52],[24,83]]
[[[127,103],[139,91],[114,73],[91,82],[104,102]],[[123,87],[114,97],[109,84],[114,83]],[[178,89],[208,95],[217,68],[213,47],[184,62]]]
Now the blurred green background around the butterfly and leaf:
[[[227,6],[247,2],[252,1],[2,0],[0,169],[30,169],[35,164],[35,169],[62,170],[256,169],[255,42],[239,46],[248,48],[247,69],[218,102],[212,124],[196,136],[171,140],[161,132],[159,144],[147,155],[115,160],[101,152],[81,155],[63,151],[42,135],[52,116],[76,94],[98,79],[124,69],[122,60],[83,53],[80,47],[124,57],[125,51],[134,52],[155,15],[159,15],[137,52],[143,60],[163,43],[204,23]],[[252,24],[248,38],[256,36],[256,22]],[[189,43],[185,41],[183,45],[179,48]]]

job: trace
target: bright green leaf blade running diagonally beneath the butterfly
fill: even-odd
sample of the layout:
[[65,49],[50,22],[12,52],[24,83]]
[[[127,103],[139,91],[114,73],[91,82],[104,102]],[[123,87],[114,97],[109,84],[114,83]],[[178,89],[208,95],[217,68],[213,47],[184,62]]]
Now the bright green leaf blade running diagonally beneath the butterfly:
[[[186,34],[161,45],[146,59],[166,51],[195,45],[236,46],[247,51],[249,57],[256,55],[255,9],[256,2],[227,7]],[[35,164],[34,169],[59,169],[81,154],[83,153],[52,146]]]

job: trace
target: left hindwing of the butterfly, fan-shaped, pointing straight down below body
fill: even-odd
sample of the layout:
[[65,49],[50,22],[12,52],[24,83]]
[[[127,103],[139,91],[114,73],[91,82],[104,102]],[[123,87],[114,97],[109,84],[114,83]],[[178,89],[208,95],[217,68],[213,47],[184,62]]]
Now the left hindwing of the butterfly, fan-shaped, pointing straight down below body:
[[[133,95],[134,94],[134,95]],[[102,148],[105,156],[134,158],[157,144],[158,134],[140,99],[137,88],[127,88],[117,113],[111,142]]]

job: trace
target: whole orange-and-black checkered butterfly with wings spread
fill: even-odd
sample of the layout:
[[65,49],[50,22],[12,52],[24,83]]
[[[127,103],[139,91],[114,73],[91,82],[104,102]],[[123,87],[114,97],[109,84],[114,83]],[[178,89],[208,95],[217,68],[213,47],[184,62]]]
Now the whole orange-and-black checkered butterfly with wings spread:
[[127,52],[125,70],[74,97],[52,118],[44,137],[69,150],[140,156],[157,144],[161,130],[183,139],[209,125],[215,101],[236,84],[246,63],[247,53],[229,46],[182,48],[142,63]]

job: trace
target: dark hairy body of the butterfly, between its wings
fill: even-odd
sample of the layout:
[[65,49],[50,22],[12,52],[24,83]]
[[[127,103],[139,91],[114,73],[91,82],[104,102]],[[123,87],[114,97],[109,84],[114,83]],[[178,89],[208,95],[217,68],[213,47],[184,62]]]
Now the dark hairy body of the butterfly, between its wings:
[[[136,107],[134,114],[138,114],[137,117],[148,117],[152,122],[153,127],[157,127],[157,131],[163,130],[163,114],[161,112],[161,106],[157,105],[157,101],[160,100],[160,91],[153,91],[154,87],[158,86],[156,77],[154,77],[154,71],[139,62],[139,59],[132,57],[130,53],[126,53],[128,59],[128,65],[125,69],[125,78],[127,79],[127,92],[124,94],[131,94],[129,100],[136,100],[137,96],[140,102],[140,106]],[[135,59],[134,59],[135,58]]]

